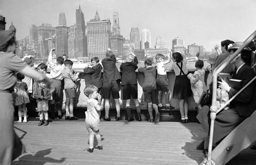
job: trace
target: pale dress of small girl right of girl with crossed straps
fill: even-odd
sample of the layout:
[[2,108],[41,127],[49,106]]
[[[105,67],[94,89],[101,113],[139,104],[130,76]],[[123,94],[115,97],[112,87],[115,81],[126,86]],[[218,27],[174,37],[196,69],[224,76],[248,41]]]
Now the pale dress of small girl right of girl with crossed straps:
[[203,83],[199,79],[196,80],[196,78],[192,73],[188,74],[188,78],[190,79],[191,90],[193,92],[194,101],[195,103],[198,104],[198,101],[203,93]]

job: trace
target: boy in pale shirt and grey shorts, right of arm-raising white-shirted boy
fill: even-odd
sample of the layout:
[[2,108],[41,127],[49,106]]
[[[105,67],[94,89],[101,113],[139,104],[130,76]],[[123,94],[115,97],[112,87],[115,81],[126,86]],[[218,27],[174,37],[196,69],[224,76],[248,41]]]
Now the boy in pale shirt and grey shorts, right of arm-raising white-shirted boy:
[[75,89],[76,89],[76,84],[74,81],[78,79],[79,72],[73,74],[73,71],[71,70],[73,66],[73,62],[71,60],[65,60],[64,65],[65,65],[65,68],[62,73],[64,78],[64,90],[65,90],[65,96],[66,96],[65,120],[77,120],[79,118],[76,118],[73,114]]

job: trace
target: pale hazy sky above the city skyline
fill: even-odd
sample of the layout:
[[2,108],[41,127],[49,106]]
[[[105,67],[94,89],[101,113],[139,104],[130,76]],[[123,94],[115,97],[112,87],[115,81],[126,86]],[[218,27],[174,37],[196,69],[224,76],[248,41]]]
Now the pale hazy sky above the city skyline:
[[0,15],[5,17],[5,29],[11,22],[17,29],[17,39],[29,35],[31,24],[59,23],[59,13],[65,13],[66,24],[75,24],[79,4],[85,22],[94,19],[113,22],[118,12],[121,34],[130,39],[131,27],[140,32],[148,28],[152,47],[158,36],[164,37],[167,48],[179,37],[185,46],[195,43],[206,51],[221,41],[244,41],[256,30],[256,0],[0,0]]

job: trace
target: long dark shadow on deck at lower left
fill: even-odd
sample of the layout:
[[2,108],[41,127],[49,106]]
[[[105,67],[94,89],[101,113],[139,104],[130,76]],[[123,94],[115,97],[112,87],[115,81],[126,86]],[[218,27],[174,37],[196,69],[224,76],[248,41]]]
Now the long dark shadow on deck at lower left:
[[63,163],[66,158],[62,158],[61,160],[53,159],[50,157],[45,157],[46,155],[50,154],[52,151],[52,148],[41,150],[36,152],[34,155],[32,154],[26,154],[20,158],[18,158],[18,161],[14,162],[32,162],[34,165],[44,165],[46,163]]

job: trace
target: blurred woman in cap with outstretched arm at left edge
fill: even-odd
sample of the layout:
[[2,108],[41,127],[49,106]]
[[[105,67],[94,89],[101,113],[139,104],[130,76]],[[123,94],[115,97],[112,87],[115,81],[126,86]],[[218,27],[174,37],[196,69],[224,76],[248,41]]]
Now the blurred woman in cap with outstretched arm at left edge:
[[38,74],[20,57],[15,55],[15,32],[0,30],[0,165],[11,165],[24,151],[22,142],[13,129],[13,87],[17,82],[15,76],[19,71],[41,82],[47,83],[50,89],[54,89],[49,79]]

